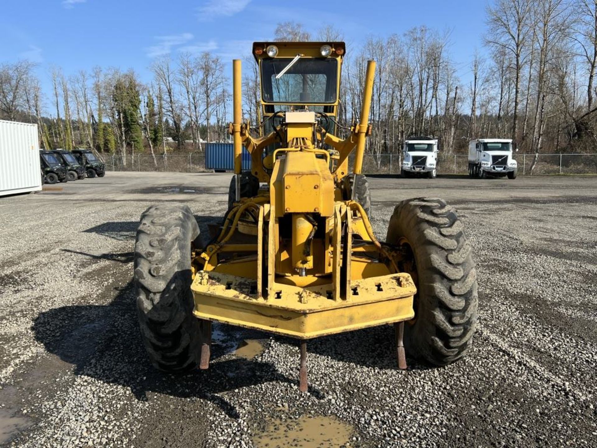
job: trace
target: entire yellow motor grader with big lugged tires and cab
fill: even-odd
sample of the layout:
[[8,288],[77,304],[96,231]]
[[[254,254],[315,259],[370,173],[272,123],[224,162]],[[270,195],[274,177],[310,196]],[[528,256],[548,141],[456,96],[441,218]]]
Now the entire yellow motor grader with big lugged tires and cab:
[[[198,224],[183,204],[164,202],[141,216],[137,305],[158,369],[207,369],[212,322],[298,339],[302,391],[313,337],[393,324],[401,369],[404,346],[439,366],[469,349],[476,271],[453,208],[438,198],[398,202],[386,241],[374,235],[361,170],[376,63],[367,64],[360,118],[344,128],[345,53],[344,42],[254,42],[263,119],[254,128],[242,120],[235,60],[235,176],[213,239],[199,243]],[[248,172],[241,171],[243,146]]]

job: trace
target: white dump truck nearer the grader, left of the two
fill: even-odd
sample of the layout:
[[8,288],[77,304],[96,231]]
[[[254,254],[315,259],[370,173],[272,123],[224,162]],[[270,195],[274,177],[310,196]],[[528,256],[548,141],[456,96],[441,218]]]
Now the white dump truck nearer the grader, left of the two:
[[402,177],[438,175],[438,140],[432,137],[412,137],[404,141]]

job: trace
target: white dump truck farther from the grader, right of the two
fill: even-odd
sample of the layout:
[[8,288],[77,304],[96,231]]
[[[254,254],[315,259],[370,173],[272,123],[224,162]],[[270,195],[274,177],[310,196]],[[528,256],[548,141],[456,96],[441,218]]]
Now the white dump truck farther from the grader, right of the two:
[[[518,149],[516,149],[518,151]],[[512,140],[476,139],[469,142],[469,176],[516,179],[518,164],[512,158]]]

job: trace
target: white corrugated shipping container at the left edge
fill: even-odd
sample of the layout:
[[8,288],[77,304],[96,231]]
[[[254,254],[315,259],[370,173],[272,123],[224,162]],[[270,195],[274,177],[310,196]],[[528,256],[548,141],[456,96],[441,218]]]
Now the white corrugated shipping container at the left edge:
[[39,190],[37,125],[0,120],[0,196]]

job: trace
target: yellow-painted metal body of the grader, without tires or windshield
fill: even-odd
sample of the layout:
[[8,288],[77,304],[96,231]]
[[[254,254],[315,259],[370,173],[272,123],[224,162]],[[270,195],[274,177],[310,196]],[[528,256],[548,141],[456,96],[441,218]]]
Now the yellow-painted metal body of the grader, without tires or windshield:
[[[278,57],[321,59],[324,43],[278,42]],[[267,45],[253,46],[259,64]],[[338,64],[337,93],[343,53],[330,56]],[[254,176],[269,189],[235,202],[218,237],[194,255],[196,317],[299,339],[413,318],[413,280],[398,272],[361,205],[344,200],[340,183],[355,150],[355,173],[361,171],[374,73],[370,61],[361,118],[345,139],[328,134],[308,104],[286,105],[278,128],[256,138],[242,121],[241,64],[233,63],[235,172],[245,146]],[[325,106],[327,115],[336,115],[338,97]],[[272,119],[272,106],[261,106],[264,119]]]

